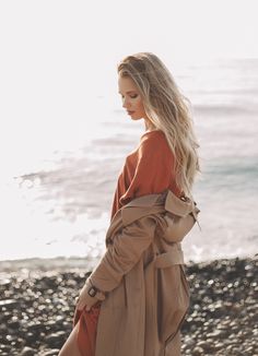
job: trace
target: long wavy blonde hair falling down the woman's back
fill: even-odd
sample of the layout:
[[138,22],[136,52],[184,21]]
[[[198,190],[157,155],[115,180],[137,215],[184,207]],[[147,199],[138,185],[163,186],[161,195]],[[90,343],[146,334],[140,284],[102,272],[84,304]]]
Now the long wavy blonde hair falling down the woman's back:
[[175,156],[176,185],[192,198],[192,185],[201,170],[189,99],[179,92],[165,64],[151,52],[124,58],[117,70],[119,75],[129,76],[136,83],[148,118],[154,129],[164,132]]

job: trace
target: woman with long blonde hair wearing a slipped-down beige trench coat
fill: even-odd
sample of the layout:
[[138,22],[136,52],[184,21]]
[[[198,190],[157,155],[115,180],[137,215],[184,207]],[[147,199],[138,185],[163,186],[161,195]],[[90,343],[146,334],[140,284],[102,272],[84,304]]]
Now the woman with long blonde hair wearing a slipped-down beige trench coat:
[[[156,226],[164,224],[164,199],[162,206],[160,198],[171,191],[175,199],[190,197],[192,200],[195,176],[200,171],[199,145],[185,97],[155,55],[139,52],[126,57],[118,64],[118,87],[122,107],[132,120],[144,120],[145,132],[139,146],[127,156],[119,175],[106,238],[107,251],[80,293],[73,330],[59,356],[160,356],[162,352],[180,355],[179,328],[189,295],[184,270],[179,268],[184,264],[179,241],[173,244],[174,251],[169,252],[177,262],[172,261],[171,269],[165,269],[173,274],[165,275],[162,270],[163,276],[160,275],[163,289],[164,281],[169,284],[174,278],[174,289],[167,299],[166,292],[155,299],[156,289],[153,298],[148,298],[154,284],[150,277],[153,270],[146,266],[151,265],[152,242],[159,238]],[[169,206],[167,198],[166,206]],[[156,254],[166,248],[159,244]],[[156,305],[150,304],[154,299]],[[184,308],[180,309],[181,301]],[[168,320],[163,309],[173,302],[180,313],[174,310]],[[159,318],[163,312],[163,319],[152,318],[153,308],[163,308],[155,315]],[[172,332],[173,318],[175,330]]]

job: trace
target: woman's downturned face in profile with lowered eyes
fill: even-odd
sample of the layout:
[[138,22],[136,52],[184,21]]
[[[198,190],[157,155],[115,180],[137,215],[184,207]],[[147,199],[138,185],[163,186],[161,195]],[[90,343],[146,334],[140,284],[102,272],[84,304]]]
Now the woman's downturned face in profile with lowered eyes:
[[118,76],[118,88],[122,99],[122,107],[133,120],[146,119],[141,95],[129,76]]

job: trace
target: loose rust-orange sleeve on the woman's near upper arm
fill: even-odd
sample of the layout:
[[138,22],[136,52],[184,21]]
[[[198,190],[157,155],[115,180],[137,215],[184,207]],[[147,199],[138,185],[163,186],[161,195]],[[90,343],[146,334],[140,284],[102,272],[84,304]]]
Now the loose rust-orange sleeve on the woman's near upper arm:
[[133,178],[120,204],[131,199],[161,193],[169,187],[173,171],[173,154],[163,132],[151,132],[141,138]]

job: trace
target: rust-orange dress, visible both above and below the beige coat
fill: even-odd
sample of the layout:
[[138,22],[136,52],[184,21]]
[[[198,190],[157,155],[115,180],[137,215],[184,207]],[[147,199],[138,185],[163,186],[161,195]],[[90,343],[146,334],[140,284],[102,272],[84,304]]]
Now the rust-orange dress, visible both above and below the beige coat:
[[[142,134],[138,147],[127,157],[115,191],[110,219],[115,213],[137,197],[161,193],[171,189],[177,197],[181,191],[175,183],[175,159],[165,134],[149,131]],[[101,301],[90,311],[75,310],[73,327],[79,322],[78,345],[82,356],[94,356]]]

